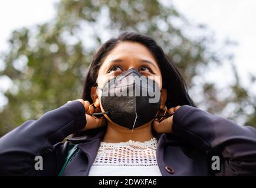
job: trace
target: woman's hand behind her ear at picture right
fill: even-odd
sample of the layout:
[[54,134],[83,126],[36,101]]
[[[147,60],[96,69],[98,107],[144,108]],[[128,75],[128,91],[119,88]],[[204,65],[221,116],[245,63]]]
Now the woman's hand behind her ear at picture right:
[[[175,113],[180,106],[176,106],[175,108],[170,108],[168,113]],[[156,130],[157,133],[171,133],[172,132],[172,120],[173,116],[167,117],[166,119],[162,120],[161,122],[157,122],[157,120],[153,120],[152,126],[153,129]]]

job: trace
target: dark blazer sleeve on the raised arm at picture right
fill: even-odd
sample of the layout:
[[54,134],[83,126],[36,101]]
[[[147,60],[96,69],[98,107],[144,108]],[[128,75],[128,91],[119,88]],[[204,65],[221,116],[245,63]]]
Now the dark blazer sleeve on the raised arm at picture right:
[[256,174],[256,130],[239,126],[221,116],[184,105],[173,115],[174,134],[204,150],[221,155],[217,176]]

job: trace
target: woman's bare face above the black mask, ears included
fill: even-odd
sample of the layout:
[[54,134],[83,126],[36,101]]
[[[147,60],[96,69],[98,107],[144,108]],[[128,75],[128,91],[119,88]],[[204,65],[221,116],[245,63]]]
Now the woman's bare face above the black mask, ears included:
[[[136,42],[121,42],[107,55],[99,69],[97,79],[99,88],[103,88],[111,78],[131,68],[136,69],[143,76],[155,80],[159,89],[162,89],[162,75],[155,58],[146,46]],[[166,100],[166,90],[163,90],[160,96],[161,104],[164,104]],[[100,107],[101,112],[104,112],[100,103],[100,95],[101,93],[96,87],[91,88],[91,98],[96,104],[95,106]],[[105,117],[110,120],[107,116]]]

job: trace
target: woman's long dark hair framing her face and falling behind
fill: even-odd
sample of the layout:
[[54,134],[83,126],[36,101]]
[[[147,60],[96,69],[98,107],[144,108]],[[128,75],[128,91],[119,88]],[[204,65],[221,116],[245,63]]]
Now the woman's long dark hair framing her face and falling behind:
[[[162,88],[167,90],[167,99],[165,105],[167,108],[172,108],[178,105],[195,106],[192,99],[188,95],[185,81],[175,67],[172,59],[170,59],[163,49],[157,45],[156,41],[149,36],[142,35],[135,32],[123,32],[117,38],[111,38],[109,41],[103,43],[97,50],[91,62],[86,79],[84,80],[84,88],[81,98],[93,103],[91,99],[91,87],[97,86],[96,80],[99,69],[104,59],[109,55],[120,42],[137,42],[144,46],[152,53],[156,59],[157,65],[162,73]],[[90,130],[88,131],[90,132]],[[93,130],[91,130],[93,132]],[[84,135],[84,133],[77,133],[76,136]]]

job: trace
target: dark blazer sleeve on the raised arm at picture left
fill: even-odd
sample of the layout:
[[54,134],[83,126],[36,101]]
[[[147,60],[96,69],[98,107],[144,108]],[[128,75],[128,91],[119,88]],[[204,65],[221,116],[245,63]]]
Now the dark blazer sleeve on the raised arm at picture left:
[[[63,153],[61,142],[85,125],[85,109],[79,101],[28,120],[0,138],[0,176],[55,176]],[[35,169],[35,156],[42,156],[42,170]]]

